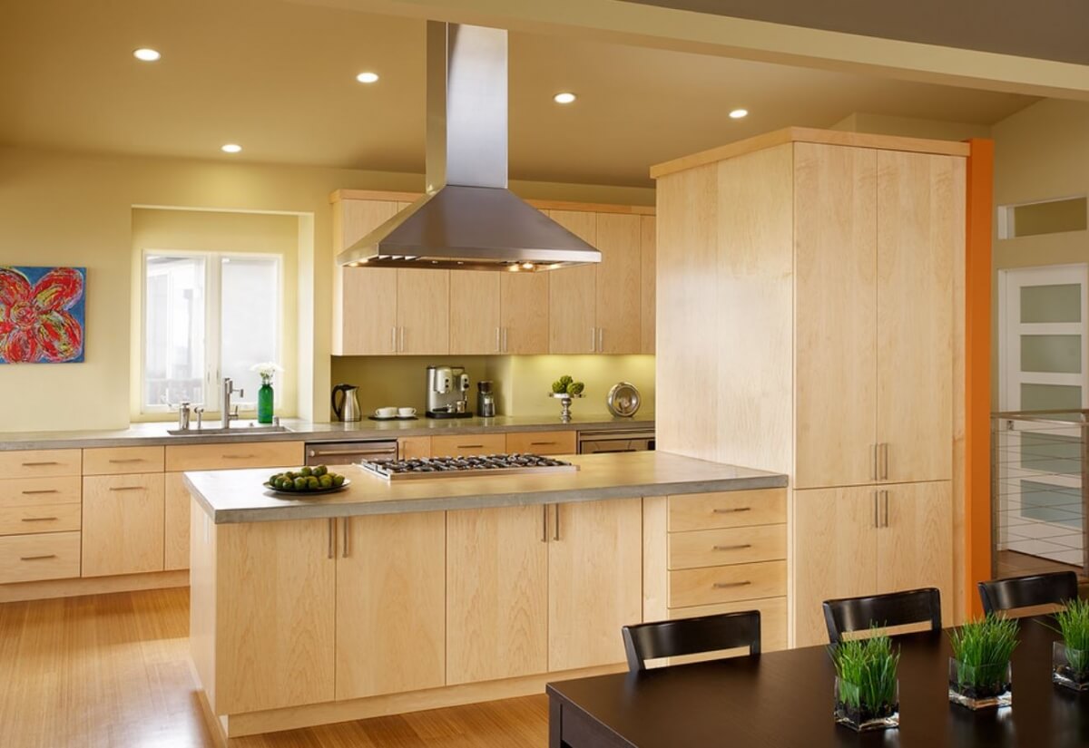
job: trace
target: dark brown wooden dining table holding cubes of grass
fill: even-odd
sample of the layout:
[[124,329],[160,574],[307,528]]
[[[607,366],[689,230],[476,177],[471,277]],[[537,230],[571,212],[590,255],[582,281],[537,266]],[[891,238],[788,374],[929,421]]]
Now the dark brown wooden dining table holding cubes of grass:
[[1089,746],[1089,693],[1051,682],[1050,618],[1020,621],[1013,706],[949,700],[949,634],[894,637],[900,727],[856,733],[832,720],[835,671],[824,647],[548,685],[550,748],[1074,748]]

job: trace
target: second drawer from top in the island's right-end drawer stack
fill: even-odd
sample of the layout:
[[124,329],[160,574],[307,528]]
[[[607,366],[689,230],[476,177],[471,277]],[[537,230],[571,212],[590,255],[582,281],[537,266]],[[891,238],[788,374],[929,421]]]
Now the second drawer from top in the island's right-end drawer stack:
[[786,525],[670,533],[669,568],[697,569],[786,558]]

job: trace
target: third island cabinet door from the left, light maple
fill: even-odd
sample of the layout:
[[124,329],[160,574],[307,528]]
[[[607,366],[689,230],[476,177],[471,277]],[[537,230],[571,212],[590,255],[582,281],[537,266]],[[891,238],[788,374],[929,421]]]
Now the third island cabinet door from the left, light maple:
[[548,670],[546,512],[544,506],[448,512],[449,685]]

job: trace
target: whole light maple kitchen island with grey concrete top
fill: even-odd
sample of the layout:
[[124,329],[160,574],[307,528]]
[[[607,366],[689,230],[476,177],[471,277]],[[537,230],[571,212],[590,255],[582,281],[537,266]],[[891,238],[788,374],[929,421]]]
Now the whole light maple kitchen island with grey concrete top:
[[[279,498],[191,472],[192,654],[220,737],[541,693],[620,628],[735,606],[786,645],[785,476],[664,452]],[[738,538],[747,538],[738,543]]]

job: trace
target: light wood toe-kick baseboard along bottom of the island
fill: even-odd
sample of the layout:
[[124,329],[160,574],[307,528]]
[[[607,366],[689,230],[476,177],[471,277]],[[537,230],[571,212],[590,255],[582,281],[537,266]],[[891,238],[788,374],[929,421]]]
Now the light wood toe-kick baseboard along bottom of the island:
[[[222,719],[225,719],[227,721],[227,736],[235,738],[243,737],[245,735],[259,735],[261,733],[278,733],[284,730],[313,727],[315,725],[332,724],[334,722],[351,722],[354,720],[366,720],[374,716],[388,716],[390,714],[404,714],[407,712],[418,712],[427,709],[443,709],[446,707],[460,707],[467,703],[478,703],[480,701],[495,701],[498,699],[510,699],[518,696],[533,696],[534,694],[543,694],[544,684],[552,683],[554,681],[567,681],[576,677],[605,675],[608,673],[622,673],[626,670],[627,665],[625,664],[602,665],[600,668],[585,668],[582,670],[568,670],[560,673],[528,675],[525,677],[507,678],[504,681],[466,683],[458,686],[445,686],[443,688],[431,688],[428,690],[417,690],[407,694],[372,696],[365,699],[353,699],[351,701],[330,701],[326,703],[307,705],[304,707],[287,707],[284,709],[272,709],[261,712],[231,714]],[[219,719],[215,716],[209,719],[213,719],[217,723],[219,723]],[[211,725],[211,728],[215,731],[215,725]]]

